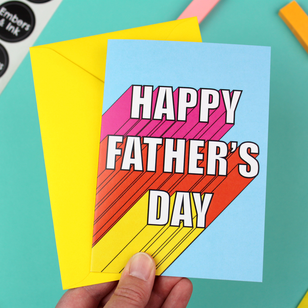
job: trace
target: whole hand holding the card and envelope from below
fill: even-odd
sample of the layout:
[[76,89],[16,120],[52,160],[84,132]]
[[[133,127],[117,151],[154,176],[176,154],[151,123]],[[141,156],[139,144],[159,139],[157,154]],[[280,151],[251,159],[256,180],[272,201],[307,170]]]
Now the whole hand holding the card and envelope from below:
[[186,307],[193,292],[188,278],[156,276],[156,265],[147,253],[128,261],[120,281],[68,290],[56,308]]

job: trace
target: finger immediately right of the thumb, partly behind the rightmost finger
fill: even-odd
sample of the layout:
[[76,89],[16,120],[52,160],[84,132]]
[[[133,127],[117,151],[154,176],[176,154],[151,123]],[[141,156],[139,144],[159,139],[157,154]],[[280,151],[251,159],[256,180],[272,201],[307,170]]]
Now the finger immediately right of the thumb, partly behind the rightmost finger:
[[173,287],[182,277],[156,276],[150,299],[146,307],[161,307]]

